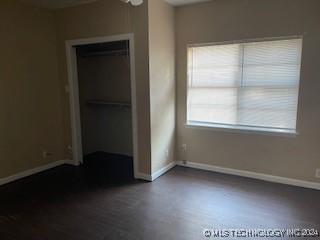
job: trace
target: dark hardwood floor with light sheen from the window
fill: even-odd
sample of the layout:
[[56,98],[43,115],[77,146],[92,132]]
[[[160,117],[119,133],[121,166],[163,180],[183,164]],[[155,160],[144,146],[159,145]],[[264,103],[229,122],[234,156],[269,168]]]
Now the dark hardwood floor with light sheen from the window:
[[147,183],[113,179],[106,168],[99,161],[62,166],[0,187],[0,239],[194,240],[206,239],[205,228],[320,230],[320,191],[182,167]]

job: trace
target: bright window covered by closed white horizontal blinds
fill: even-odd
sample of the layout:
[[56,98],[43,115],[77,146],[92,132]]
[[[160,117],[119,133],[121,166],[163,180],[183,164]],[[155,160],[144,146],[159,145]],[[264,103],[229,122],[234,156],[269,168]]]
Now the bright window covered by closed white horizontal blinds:
[[188,48],[187,124],[295,133],[302,39]]

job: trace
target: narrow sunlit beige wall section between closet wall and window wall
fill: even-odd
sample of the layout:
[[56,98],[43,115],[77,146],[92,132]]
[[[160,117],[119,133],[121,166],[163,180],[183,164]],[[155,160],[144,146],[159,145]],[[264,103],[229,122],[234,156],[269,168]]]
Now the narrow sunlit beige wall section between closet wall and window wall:
[[152,172],[175,161],[174,7],[149,0]]

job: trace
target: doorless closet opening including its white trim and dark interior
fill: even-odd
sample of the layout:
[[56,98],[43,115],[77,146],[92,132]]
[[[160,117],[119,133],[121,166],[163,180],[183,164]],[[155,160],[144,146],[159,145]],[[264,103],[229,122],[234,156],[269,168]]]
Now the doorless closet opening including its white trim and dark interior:
[[103,178],[137,174],[132,35],[67,41],[73,159]]

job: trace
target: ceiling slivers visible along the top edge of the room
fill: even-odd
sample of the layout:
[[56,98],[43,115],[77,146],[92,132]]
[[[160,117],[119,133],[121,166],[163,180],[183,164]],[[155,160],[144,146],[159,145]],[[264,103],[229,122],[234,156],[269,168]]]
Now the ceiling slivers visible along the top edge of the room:
[[[20,1],[30,3],[38,7],[58,9],[58,8],[65,8],[65,7],[80,5],[88,2],[94,2],[97,0],[20,0]],[[207,2],[210,0],[166,0],[166,1],[174,6],[181,6],[181,5],[192,4],[192,3]]]

